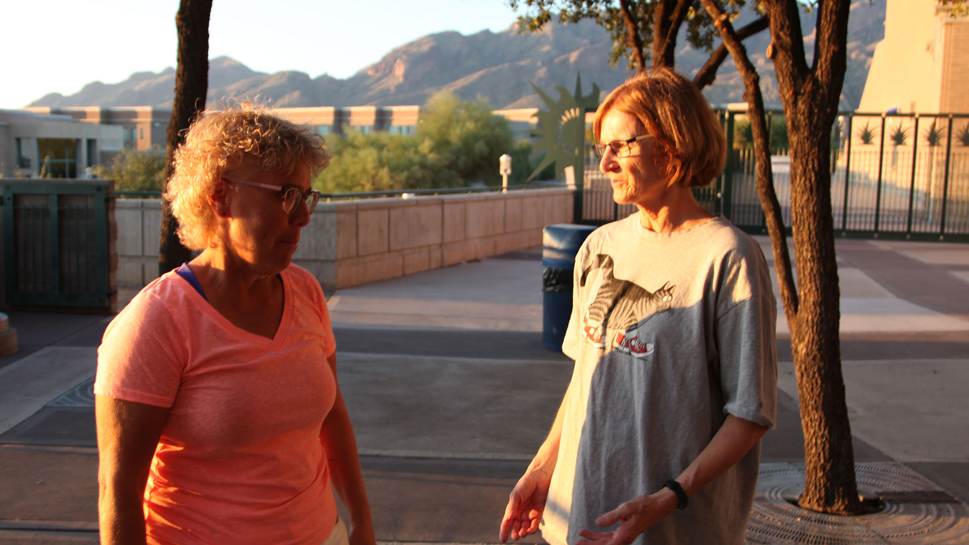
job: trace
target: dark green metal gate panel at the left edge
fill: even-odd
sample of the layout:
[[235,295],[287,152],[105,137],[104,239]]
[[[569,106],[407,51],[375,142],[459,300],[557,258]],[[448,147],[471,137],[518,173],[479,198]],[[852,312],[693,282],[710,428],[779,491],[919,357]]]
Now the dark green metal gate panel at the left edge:
[[110,311],[109,180],[4,179],[7,304]]

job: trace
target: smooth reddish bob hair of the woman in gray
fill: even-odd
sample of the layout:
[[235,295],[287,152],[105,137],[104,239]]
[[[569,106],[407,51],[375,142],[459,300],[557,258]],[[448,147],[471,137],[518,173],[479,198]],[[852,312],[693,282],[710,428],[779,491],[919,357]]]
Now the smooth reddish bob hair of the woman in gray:
[[720,175],[727,161],[727,139],[700,89],[669,68],[651,67],[616,87],[596,112],[593,132],[599,140],[610,110],[638,117],[661,153],[672,161],[673,183],[699,187]]

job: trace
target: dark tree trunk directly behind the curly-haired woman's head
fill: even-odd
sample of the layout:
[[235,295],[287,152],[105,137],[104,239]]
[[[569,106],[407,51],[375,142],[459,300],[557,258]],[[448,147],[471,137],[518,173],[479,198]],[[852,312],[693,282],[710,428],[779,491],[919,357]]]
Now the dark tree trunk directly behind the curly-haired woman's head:
[[[178,30],[178,67],[175,69],[175,98],[172,120],[166,133],[165,185],[174,172],[174,152],[185,142],[185,130],[205,109],[208,93],[208,18],[212,0],[181,0],[175,27]],[[162,200],[162,229],[158,241],[158,273],[172,271],[189,260],[191,253],[175,235],[178,221],[168,200]]]

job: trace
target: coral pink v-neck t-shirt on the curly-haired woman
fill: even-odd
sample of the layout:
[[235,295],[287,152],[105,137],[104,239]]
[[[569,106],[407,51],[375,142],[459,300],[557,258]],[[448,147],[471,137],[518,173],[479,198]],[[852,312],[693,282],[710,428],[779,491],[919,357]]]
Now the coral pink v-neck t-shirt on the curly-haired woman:
[[168,272],[110,323],[94,392],[171,407],[144,491],[148,543],[319,544],[336,521],[320,427],[336,396],[326,300],[281,273],[272,339]]

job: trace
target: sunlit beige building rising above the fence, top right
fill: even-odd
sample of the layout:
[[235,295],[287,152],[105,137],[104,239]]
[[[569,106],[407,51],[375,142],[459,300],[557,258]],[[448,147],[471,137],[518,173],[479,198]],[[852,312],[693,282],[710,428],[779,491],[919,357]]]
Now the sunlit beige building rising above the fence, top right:
[[937,0],[887,0],[858,112],[969,113],[969,17]]

